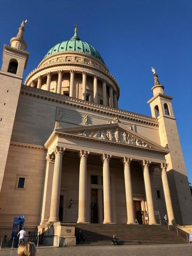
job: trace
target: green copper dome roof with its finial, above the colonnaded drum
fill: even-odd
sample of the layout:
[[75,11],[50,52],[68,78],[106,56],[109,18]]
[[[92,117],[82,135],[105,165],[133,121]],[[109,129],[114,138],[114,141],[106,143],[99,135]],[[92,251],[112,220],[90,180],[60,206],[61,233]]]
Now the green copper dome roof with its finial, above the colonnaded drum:
[[45,55],[44,58],[59,52],[82,52],[93,56],[94,58],[105,63],[99,54],[99,52],[90,44],[81,41],[81,39],[77,36],[77,28],[75,28],[75,34],[68,41],[63,41],[59,44],[53,46]]

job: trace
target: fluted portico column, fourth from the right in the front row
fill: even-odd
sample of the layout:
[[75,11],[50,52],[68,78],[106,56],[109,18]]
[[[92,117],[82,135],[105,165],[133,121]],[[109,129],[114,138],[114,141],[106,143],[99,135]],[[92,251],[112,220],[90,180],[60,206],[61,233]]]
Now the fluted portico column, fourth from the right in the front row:
[[103,223],[112,222],[112,212],[111,212],[111,188],[110,188],[110,172],[109,172],[109,161],[111,155],[103,154],[103,210],[104,210],[104,220]]

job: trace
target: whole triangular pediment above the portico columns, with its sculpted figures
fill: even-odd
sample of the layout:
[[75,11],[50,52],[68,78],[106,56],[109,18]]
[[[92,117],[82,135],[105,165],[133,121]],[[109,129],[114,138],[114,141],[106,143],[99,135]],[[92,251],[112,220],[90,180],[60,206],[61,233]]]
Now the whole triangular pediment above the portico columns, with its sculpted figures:
[[125,126],[119,123],[104,125],[89,125],[72,128],[55,128],[56,133],[68,134],[70,136],[97,140],[101,142],[118,143],[118,145],[138,147],[143,149],[161,150],[169,153],[169,150],[157,143],[139,135],[131,130],[131,126]]

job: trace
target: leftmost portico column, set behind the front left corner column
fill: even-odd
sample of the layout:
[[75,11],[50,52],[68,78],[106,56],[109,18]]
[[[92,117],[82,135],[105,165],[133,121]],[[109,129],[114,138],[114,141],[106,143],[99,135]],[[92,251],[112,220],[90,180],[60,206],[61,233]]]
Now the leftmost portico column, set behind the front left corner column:
[[41,225],[48,221],[51,205],[51,190],[54,169],[54,155],[47,154],[46,156],[46,171],[45,171],[45,184],[43,193]]

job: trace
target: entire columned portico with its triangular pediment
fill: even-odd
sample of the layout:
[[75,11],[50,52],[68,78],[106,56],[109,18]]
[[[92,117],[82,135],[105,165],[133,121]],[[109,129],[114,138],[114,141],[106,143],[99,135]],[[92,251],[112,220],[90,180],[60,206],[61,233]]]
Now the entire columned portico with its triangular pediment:
[[[114,139],[99,137],[99,134],[105,132],[114,134]],[[119,138],[119,142],[114,141],[115,136]],[[136,142],[130,142],[130,137],[132,141],[137,141],[138,146]],[[141,140],[143,143],[139,144]],[[70,130],[56,127],[45,147],[47,178],[41,223],[45,223],[48,219],[49,222],[60,220],[89,223],[97,220],[98,223],[133,224],[137,219],[134,205],[134,199],[137,197],[143,198],[139,202],[142,212],[149,215],[149,224],[157,223],[154,215],[157,209],[154,205],[153,172],[150,170],[152,167],[159,173],[162,172],[161,182],[164,194],[168,198],[170,193],[165,171],[167,149],[146,141],[137,133],[126,130],[117,123]],[[54,162],[52,169],[50,169],[50,161]],[[48,177],[51,177],[52,172],[53,181],[50,189]],[[136,175],[140,175],[141,178],[135,186]],[[97,177],[97,181],[93,182],[94,177]],[[139,190],[137,186],[140,187]],[[65,191],[63,202],[59,199],[61,190]],[[96,193],[94,198],[93,192]],[[68,207],[70,199],[73,199],[73,205]],[[174,219],[171,197],[166,199],[165,203],[171,221]],[[47,207],[50,207],[50,210]],[[61,208],[62,218],[61,215],[59,216]],[[123,213],[119,209],[122,209]],[[97,216],[94,217],[94,214]]]

